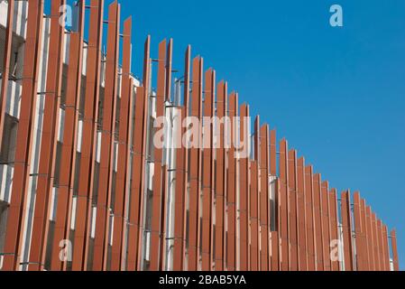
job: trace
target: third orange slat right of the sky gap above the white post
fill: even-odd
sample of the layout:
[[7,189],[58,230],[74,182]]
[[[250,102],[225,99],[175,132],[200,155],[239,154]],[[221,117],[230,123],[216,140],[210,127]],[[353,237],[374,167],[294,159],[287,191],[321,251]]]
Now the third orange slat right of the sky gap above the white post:
[[[212,119],[215,113],[216,71],[209,69],[205,73],[204,117]],[[207,119],[207,118],[205,118]],[[211,120],[203,121],[203,175],[202,175],[202,244],[201,269],[210,271],[213,264],[213,200],[214,200],[214,126]]]

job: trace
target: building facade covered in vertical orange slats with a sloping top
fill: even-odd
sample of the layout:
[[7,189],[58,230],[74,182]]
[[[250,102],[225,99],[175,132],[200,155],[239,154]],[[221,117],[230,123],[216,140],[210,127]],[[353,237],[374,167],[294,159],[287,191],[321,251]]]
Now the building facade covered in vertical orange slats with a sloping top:
[[148,36],[137,79],[121,6],[66,2],[0,0],[2,270],[399,270],[395,230],[190,46],[177,71]]

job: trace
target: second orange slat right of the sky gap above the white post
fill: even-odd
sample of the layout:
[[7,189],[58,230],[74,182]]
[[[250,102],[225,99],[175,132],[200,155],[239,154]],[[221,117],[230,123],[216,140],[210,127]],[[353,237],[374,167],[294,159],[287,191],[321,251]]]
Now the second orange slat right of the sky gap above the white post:
[[[193,86],[191,93],[191,116],[197,117],[198,124],[202,119],[202,71],[203,60],[196,57],[193,60]],[[199,199],[201,191],[201,127],[194,127],[196,134],[193,137],[193,145],[190,149],[190,190],[189,190],[189,270],[198,270],[200,250],[199,250]],[[197,146],[197,147],[196,147]]]

